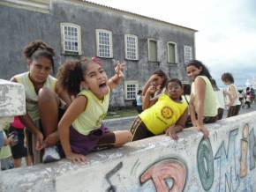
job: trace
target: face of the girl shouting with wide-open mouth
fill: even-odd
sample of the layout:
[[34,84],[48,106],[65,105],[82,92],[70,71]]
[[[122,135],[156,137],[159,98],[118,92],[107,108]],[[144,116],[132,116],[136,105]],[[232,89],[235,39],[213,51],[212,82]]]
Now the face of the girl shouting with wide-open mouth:
[[108,77],[99,63],[88,63],[84,74],[84,86],[102,100],[109,93]]

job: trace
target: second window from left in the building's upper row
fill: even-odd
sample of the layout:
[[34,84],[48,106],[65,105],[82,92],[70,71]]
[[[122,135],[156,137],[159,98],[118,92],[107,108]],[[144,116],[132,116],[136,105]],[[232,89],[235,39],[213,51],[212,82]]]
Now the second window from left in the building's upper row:
[[112,32],[96,29],[97,56],[112,58]]

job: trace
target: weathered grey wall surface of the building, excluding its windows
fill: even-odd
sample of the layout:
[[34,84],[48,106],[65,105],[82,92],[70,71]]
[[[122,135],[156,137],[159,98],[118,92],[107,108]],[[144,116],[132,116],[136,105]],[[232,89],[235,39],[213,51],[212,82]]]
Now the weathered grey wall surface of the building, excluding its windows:
[[[194,51],[195,30],[158,22],[82,1],[50,1],[49,13],[29,11],[0,5],[0,77],[10,79],[14,74],[27,70],[22,48],[30,41],[41,39],[56,50],[56,69],[70,55],[63,55],[61,48],[61,23],[73,23],[81,27],[82,55],[96,55],[95,29],[107,29],[113,33],[113,58],[102,59],[109,76],[114,74],[117,60],[124,61],[124,34],[138,36],[139,60],[125,60],[125,80],[136,80],[142,87],[154,70],[161,68],[172,78],[185,80],[184,45]],[[147,38],[158,41],[159,62],[148,62]],[[167,42],[177,43],[177,63],[167,63]],[[124,82],[113,92],[110,106],[132,105],[124,100]]]

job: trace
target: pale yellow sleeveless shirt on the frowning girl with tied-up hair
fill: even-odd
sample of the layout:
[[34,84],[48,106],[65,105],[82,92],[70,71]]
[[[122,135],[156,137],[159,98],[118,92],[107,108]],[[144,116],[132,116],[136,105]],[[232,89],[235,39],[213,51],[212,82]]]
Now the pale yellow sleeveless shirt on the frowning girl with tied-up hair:
[[[28,77],[29,72],[21,73],[14,76],[19,84],[24,85],[26,94],[26,113],[32,118],[33,121],[39,120],[40,115],[38,111],[38,95],[34,90],[34,85]],[[47,87],[50,90],[56,91],[56,78],[49,76],[43,87]]]

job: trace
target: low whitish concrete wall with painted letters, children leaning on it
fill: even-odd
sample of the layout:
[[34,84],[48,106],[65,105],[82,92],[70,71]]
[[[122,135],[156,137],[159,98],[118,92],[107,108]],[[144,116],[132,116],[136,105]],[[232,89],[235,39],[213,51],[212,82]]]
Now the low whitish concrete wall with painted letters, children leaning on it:
[[68,160],[0,174],[0,191],[256,191],[256,112]]

